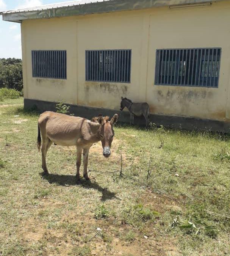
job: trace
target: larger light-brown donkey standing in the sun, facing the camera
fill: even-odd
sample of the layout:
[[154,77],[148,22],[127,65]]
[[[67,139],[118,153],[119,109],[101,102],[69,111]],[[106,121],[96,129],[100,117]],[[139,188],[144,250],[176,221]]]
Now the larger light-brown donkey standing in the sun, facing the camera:
[[[87,165],[89,148],[95,142],[101,141],[104,157],[110,156],[110,148],[113,141],[113,125],[119,118],[115,114],[109,121],[109,117],[98,115],[94,121],[77,116],[68,116],[51,111],[44,112],[38,119],[38,151],[42,151],[43,175],[49,174],[46,166],[46,154],[52,143],[61,146],[76,146],[77,148],[77,173],[76,180],[80,179],[81,154],[83,151],[84,178],[88,180]],[[42,137],[42,141],[41,141]],[[42,143],[42,147],[41,147]]]

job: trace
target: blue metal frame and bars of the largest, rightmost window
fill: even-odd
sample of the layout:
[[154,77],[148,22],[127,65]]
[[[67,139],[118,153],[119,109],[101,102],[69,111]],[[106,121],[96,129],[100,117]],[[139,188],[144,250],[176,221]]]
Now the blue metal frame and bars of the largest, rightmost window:
[[[210,53],[211,51],[213,53],[215,50],[216,50],[216,57],[217,58],[215,60],[213,60],[214,54],[212,56],[212,54],[208,55],[208,53]],[[172,62],[172,63],[176,63],[176,64],[175,64],[175,66],[171,66],[171,75],[169,75],[169,73],[168,73],[167,76],[166,75],[164,75],[164,76],[167,77],[167,81],[169,79],[172,81],[171,77],[174,77],[175,74],[176,74],[176,76],[175,76],[175,77],[177,77],[177,80],[175,81],[176,83],[169,83],[169,82],[164,83],[166,79],[164,79],[164,81],[162,81],[161,77],[163,77],[163,75],[161,75],[161,72],[164,72],[164,74],[165,74],[165,72],[167,72],[167,71],[164,71],[164,69],[168,69],[168,72],[169,72],[170,64],[166,64],[163,67],[163,64],[161,64],[161,62],[166,62],[167,63],[169,61],[164,60],[164,58],[165,58],[164,55],[163,55],[163,61],[161,61],[161,59],[160,59],[160,61],[158,60],[158,54],[160,54],[160,51],[165,51],[165,52],[169,51],[169,54],[170,54],[170,51],[173,51],[172,56],[171,56],[172,60],[169,60],[169,61]],[[179,56],[177,55],[177,61],[176,61],[176,59],[174,61],[174,55],[173,54],[176,54],[178,51],[179,51],[179,54],[180,54],[180,51],[182,51],[182,53],[186,53],[186,52],[189,53],[189,51],[191,51],[191,52],[193,51],[193,55],[191,54],[191,58],[193,58],[196,55],[196,60],[198,60],[198,61],[192,62],[191,69],[190,69],[190,64],[191,64],[192,59],[189,59],[189,61],[188,61],[187,58],[186,58],[186,60],[184,60],[183,56],[182,56],[182,60],[181,60],[180,55]],[[197,53],[194,54],[194,51],[197,51]],[[199,57],[199,51],[200,51],[200,57]],[[217,54],[218,53],[217,51],[219,51],[219,54]],[[207,52],[207,54],[206,54],[206,52]],[[221,47],[156,49],[156,52],[155,52],[154,84],[155,85],[164,85],[164,86],[180,86],[180,87],[182,87],[182,86],[185,87],[186,86],[186,87],[199,87],[199,88],[219,88],[219,78],[220,78],[220,69],[221,69],[221,53],[222,53],[222,48]],[[204,55],[204,58],[203,58],[203,55]],[[166,57],[167,57],[167,55],[166,55]],[[199,60],[199,58],[200,58],[201,61]],[[207,58],[208,58],[208,60],[207,60]],[[211,58],[211,60],[210,60],[210,58]],[[204,64],[204,66],[203,66],[204,61],[205,61],[205,63],[208,61],[208,68],[207,68],[206,64]],[[213,65],[209,66],[209,62],[211,62],[211,61],[216,61],[218,64],[217,65],[213,64]],[[179,62],[181,62],[181,66],[180,66],[180,64],[177,66],[177,63],[179,63]],[[185,63],[184,67],[182,66],[183,62]],[[187,63],[188,66],[186,66],[186,63]],[[211,68],[212,66],[213,66],[213,68]],[[195,68],[195,72],[198,71],[197,76],[195,75],[195,77],[194,77],[194,75],[193,76],[188,75],[188,77],[186,77],[187,67],[188,67],[189,72],[191,72],[191,73],[194,71],[194,68]],[[203,68],[206,68],[206,70],[203,71]],[[175,72],[175,69],[178,69],[177,72]],[[205,74],[207,74],[207,72],[208,72],[207,69],[209,69],[209,72],[211,72],[211,76],[208,76],[208,79],[210,79],[210,77],[211,77],[211,81],[214,80],[213,71],[217,72],[217,76],[215,76],[215,78],[217,80],[216,82],[214,80],[211,83],[208,83],[208,81],[205,82],[205,84],[203,83],[202,77],[205,77],[205,76],[202,76],[202,73],[205,72]],[[172,76],[172,71],[174,72],[174,76]],[[180,71],[181,72],[185,71],[185,75],[182,75],[182,76],[179,75]],[[200,78],[199,78],[199,75],[200,75]],[[180,77],[180,79],[179,79],[180,83],[177,82],[179,77]],[[199,84],[197,83],[197,79],[199,81]],[[203,85],[200,82],[201,79],[202,79]],[[184,80],[184,83],[182,83],[182,80]],[[190,80],[191,80],[191,83],[189,83]],[[193,80],[194,80],[194,83],[192,83]]]

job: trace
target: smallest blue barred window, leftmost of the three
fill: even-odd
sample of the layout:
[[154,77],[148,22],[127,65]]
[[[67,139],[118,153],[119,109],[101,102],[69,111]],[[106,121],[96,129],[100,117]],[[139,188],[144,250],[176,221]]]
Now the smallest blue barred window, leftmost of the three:
[[66,50],[33,50],[33,77],[66,79]]

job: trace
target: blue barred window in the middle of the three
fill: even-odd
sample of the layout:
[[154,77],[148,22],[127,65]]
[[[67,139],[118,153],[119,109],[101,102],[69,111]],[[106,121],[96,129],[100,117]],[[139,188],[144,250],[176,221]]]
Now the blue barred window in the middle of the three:
[[130,83],[131,50],[86,50],[86,81]]

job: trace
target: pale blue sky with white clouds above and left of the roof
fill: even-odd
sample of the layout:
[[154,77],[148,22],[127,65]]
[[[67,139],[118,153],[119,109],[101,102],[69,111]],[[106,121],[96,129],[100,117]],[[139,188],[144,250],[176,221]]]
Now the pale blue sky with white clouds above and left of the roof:
[[[67,0],[0,0],[0,11],[27,8]],[[22,58],[20,24],[2,20],[0,16],[0,58]]]

